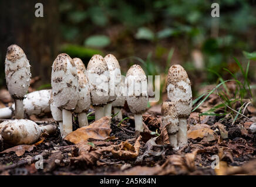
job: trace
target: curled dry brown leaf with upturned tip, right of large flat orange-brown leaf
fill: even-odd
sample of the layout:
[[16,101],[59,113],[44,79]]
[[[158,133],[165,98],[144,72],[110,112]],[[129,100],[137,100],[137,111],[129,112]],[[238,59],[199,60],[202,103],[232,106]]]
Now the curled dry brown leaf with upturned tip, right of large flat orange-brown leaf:
[[132,146],[127,141],[120,143],[111,150],[111,153],[114,157],[117,157],[122,160],[129,160],[131,158],[136,158],[139,155],[140,151],[140,139],[142,136],[139,136]]

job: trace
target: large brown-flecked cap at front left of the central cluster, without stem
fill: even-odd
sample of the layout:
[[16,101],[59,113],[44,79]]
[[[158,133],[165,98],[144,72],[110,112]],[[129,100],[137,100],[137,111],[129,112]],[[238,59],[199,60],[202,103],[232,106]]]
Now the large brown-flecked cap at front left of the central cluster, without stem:
[[57,56],[52,65],[52,96],[60,110],[74,110],[79,98],[76,65],[68,54]]

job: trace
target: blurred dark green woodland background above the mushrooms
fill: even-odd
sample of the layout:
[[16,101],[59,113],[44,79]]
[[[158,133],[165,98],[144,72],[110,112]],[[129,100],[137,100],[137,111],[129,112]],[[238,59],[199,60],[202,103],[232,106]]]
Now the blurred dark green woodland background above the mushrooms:
[[[43,4],[43,18],[35,4]],[[220,4],[212,18],[211,4]],[[221,77],[256,79],[256,1],[245,0],[59,0],[0,1],[0,86],[5,87],[6,49],[18,44],[31,63],[37,89],[50,87],[51,65],[59,53],[87,65],[93,54],[114,54],[125,75],[140,64],[148,75],[165,79],[170,65],[181,64],[194,96]],[[227,68],[228,71],[225,71]],[[161,84],[161,85],[164,85]]]

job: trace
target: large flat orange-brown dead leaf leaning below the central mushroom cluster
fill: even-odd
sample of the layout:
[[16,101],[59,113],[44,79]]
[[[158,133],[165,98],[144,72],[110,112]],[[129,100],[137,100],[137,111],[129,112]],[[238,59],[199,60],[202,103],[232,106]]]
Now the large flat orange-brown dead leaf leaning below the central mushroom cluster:
[[72,133],[69,133],[65,137],[65,140],[68,140],[74,144],[81,143],[89,138],[93,138],[95,140],[105,140],[106,138],[109,138],[111,132],[109,124],[110,119],[111,117],[109,116],[102,117],[89,126],[81,127]]

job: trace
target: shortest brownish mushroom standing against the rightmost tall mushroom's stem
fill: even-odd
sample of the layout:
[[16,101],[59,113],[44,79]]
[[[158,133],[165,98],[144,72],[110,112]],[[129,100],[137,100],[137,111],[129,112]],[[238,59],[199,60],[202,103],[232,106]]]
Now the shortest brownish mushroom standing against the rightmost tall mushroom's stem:
[[164,101],[161,106],[161,119],[163,127],[166,127],[169,135],[170,145],[174,150],[178,150],[177,133],[178,133],[178,114],[175,103]]

